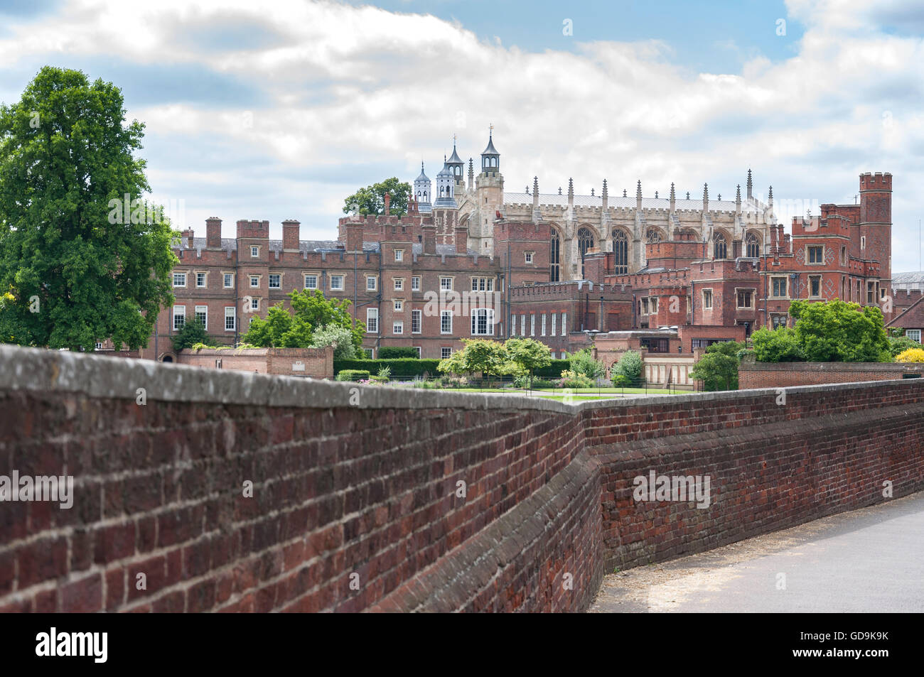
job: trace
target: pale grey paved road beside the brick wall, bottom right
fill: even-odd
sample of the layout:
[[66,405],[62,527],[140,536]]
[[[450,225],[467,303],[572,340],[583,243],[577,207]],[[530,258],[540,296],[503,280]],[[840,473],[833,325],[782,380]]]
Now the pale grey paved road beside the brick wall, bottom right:
[[607,575],[590,611],[924,611],[924,492]]

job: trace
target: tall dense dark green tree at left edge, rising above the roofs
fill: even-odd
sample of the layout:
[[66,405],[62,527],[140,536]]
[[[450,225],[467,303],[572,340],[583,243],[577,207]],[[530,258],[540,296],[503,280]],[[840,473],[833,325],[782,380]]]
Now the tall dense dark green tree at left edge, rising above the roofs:
[[0,340],[136,349],[173,305],[174,234],[141,199],[144,125],[123,105],[111,82],[52,66],[0,105]]

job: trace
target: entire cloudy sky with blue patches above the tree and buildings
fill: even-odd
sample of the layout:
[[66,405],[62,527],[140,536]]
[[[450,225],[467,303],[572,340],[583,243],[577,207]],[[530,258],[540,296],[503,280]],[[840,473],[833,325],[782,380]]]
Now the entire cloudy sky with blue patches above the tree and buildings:
[[[509,190],[733,198],[754,171],[783,211],[853,203],[894,175],[893,270],[924,216],[920,0],[185,3],[0,0],[0,101],[45,64],[125,92],[153,198],[204,219],[334,237],[343,199],[488,126]],[[788,226],[787,226],[788,230]]]

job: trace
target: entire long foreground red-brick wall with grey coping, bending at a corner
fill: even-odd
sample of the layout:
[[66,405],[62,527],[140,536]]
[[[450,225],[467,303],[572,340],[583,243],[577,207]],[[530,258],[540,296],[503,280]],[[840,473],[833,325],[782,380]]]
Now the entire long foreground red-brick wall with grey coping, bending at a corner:
[[[920,380],[776,399],[563,405],[0,346],[0,475],[76,495],[0,503],[0,611],[582,611],[614,566],[924,489]],[[711,475],[710,508],[635,502],[652,469]]]

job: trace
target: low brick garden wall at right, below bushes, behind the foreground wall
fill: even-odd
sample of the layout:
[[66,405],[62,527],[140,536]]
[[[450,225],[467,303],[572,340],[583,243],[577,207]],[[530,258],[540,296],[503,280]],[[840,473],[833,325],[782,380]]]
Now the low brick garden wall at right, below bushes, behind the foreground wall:
[[906,373],[922,374],[924,365],[897,362],[744,362],[738,388],[789,388],[819,383],[894,381]]

